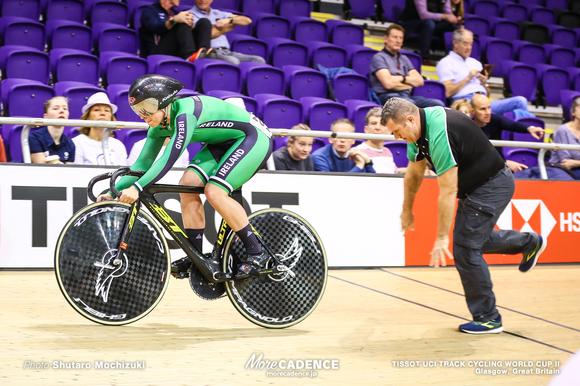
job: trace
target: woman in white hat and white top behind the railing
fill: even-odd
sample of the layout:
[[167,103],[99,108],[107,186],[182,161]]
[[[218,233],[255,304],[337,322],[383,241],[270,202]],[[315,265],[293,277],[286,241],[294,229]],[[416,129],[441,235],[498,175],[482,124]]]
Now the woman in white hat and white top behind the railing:
[[[88,121],[117,121],[117,106],[111,103],[106,93],[96,93],[82,107],[81,119]],[[74,163],[81,165],[105,165],[103,155],[103,128],[80,128],[78,136],[73,138],[77,147]],[[108,165],[128,165],[125,145],[116,138],[109,137]]]

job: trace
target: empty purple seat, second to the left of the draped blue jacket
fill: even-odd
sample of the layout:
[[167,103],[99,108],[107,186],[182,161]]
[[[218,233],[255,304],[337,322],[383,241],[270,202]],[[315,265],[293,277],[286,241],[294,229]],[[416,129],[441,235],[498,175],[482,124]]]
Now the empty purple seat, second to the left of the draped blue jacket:
[[284,71],[269,64],[243,61],[240,63],[242,85],[248,96],[270,93],[284,95]]

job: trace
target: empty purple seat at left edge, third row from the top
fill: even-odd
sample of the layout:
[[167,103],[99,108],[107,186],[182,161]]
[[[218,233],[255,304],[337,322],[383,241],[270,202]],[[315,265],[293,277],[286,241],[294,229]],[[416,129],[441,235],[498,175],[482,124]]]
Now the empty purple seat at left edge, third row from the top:
[[8,45],[0,47],[0,57],[4,78],[48,83],[48,54],[26,46]]

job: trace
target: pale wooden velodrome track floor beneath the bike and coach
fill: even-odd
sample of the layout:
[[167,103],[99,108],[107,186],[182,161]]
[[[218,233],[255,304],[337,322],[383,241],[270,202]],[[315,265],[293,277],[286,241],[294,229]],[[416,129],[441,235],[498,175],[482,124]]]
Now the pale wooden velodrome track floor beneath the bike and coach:
[[[227,298],[203,301],[188,281],[176,279],[140,321],[96,325],[66,303],[53,272],[0,272],[0,384],[547,385],[551,375],[514,375],[513,366],[501,367],[509,375],[495,376],[439,363],[393,366],[394,360],[466,366],[523,360],[534,369],[538,360],[561,366],[580,348],[580,266],[538,266],[525,275],[513,266],[492,267],[491,276],[506,332],[475,336],[457,331],[470,315],[453,267],[331,270],[316,311],[284,330],[255,326]],[[245,369],[253,353],[269,360],[338,359],[339,369],[267,376],[265,369]],[[23,369],[26,360],[93,367]],[[95,369],[95,360],[144,360],[146,369]]]

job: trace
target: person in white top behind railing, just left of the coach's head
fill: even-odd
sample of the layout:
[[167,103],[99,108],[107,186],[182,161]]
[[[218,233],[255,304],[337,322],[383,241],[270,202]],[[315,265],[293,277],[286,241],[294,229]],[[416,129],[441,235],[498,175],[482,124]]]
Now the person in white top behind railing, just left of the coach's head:
[[[367,134],[390,134],[386,126],[380,124],[380,113],[382,107],[373,107],[367,112],[365,117],[364,132]],[[397,174],[398,168],[395,165],[393,154],[384,146],[383,140],[368,140],[356,147],[371,158],[372,165],[377,173]],[[403,168],[401,168],[403,169]]]

